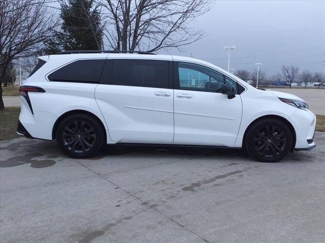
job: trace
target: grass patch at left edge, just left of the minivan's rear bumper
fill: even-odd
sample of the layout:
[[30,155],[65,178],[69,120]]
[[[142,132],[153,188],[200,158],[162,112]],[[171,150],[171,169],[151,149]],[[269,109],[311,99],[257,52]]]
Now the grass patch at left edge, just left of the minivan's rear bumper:
[[0,141],[19,138],[16,133],[20,107],[6,107],[0,111]]

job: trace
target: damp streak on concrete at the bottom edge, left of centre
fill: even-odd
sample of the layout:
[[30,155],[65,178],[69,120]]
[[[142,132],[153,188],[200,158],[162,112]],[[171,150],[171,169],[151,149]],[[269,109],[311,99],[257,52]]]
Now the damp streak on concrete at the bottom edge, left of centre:
[[76,242],[76,238],[81,238],[78,242],[79,243],[89,243],[91,242],[93,239],[100,237],[102,235],[104,235],[107,231],[109,231],[111,228],[123,223],[123,221],[126,220],[130,220],[132,219],[133,216],[127,216],[127,217],[123,217],[120,218],[118,220],[116,220],[114,223],[108,223],[106,224],[104,227],[102,227],[99,230],[86,230],[84,232],[81,233],[76,233],[71,235],[69,238],[72,239],[71,242]]

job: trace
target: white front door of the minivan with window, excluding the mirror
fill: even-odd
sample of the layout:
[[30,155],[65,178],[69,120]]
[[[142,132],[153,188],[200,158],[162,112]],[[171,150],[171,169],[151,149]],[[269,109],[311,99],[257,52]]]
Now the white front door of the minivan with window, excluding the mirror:
[[211,68],[187,62],[174,66],[174,143],[233,146],[242,117],[240,95],[219,93],[223,84],[237,83]]

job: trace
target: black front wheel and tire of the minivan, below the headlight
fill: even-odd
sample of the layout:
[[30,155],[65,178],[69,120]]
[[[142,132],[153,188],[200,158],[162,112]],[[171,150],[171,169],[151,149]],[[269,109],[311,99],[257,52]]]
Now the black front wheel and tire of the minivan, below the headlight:
[[283,121],[263,118],[247,129],[243,145],[251,157],[273,163],[288,154],[293,146],[293,134]]

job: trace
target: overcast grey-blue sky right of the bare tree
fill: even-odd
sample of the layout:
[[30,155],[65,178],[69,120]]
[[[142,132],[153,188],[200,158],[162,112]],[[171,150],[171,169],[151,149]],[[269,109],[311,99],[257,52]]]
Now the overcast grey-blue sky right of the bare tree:
[[259,62],[268,76],[282,64],[325,71],[325,1],[216,1],[192,25],[208,36],[185,46],[183,53],[171,54],[192,53],[226,69],[228,52],[223,47],[236,45],[231,68],[254,69]]

